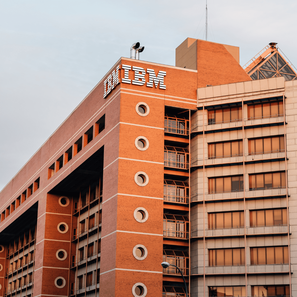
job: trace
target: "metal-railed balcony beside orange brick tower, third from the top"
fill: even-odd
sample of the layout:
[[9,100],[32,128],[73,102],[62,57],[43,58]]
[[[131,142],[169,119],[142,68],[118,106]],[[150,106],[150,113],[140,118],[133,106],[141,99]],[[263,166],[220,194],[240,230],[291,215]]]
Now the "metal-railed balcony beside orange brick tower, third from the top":
[[189,203],[189,184],[185,181],[164,179],[164,201]]

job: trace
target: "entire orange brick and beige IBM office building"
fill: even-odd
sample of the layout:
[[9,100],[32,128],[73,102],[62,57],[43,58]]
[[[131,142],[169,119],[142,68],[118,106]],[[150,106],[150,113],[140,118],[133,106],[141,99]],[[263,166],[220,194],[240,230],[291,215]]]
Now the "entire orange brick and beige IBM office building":
[[272,42],[121,57],[0,192],[0,296],[295,296],[296,70]]

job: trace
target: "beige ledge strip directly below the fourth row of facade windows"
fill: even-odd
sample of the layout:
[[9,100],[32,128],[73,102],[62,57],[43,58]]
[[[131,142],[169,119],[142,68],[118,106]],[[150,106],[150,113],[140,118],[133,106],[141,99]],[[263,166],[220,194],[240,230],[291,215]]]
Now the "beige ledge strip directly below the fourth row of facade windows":
[[[287,225],[274,226],[254,226],[246,227],[247,236],[260,234],[287,234]],[[289,225],[289,233],[291,233],[291,226]],[[219,228],[219,229],[205,229],[205,237],[220,237],[220,236],[244,236],[244,227],[238,228]],[[203,237],[203,229],[192,229],[191,238]]]

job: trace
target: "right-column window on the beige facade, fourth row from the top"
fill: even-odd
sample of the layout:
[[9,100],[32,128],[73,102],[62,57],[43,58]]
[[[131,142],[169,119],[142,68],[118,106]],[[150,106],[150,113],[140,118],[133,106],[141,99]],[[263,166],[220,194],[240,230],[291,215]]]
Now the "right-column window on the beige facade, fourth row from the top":
[[249,211],[250,226],[287,225],[287,209],[265,209]]

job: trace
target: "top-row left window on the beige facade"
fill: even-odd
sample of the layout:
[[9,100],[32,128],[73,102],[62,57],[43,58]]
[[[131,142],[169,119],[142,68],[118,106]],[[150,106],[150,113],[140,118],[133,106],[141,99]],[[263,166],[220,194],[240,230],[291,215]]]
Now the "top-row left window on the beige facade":
[[238,122],[242,120],[242,107],[208,110],[208,125]]

